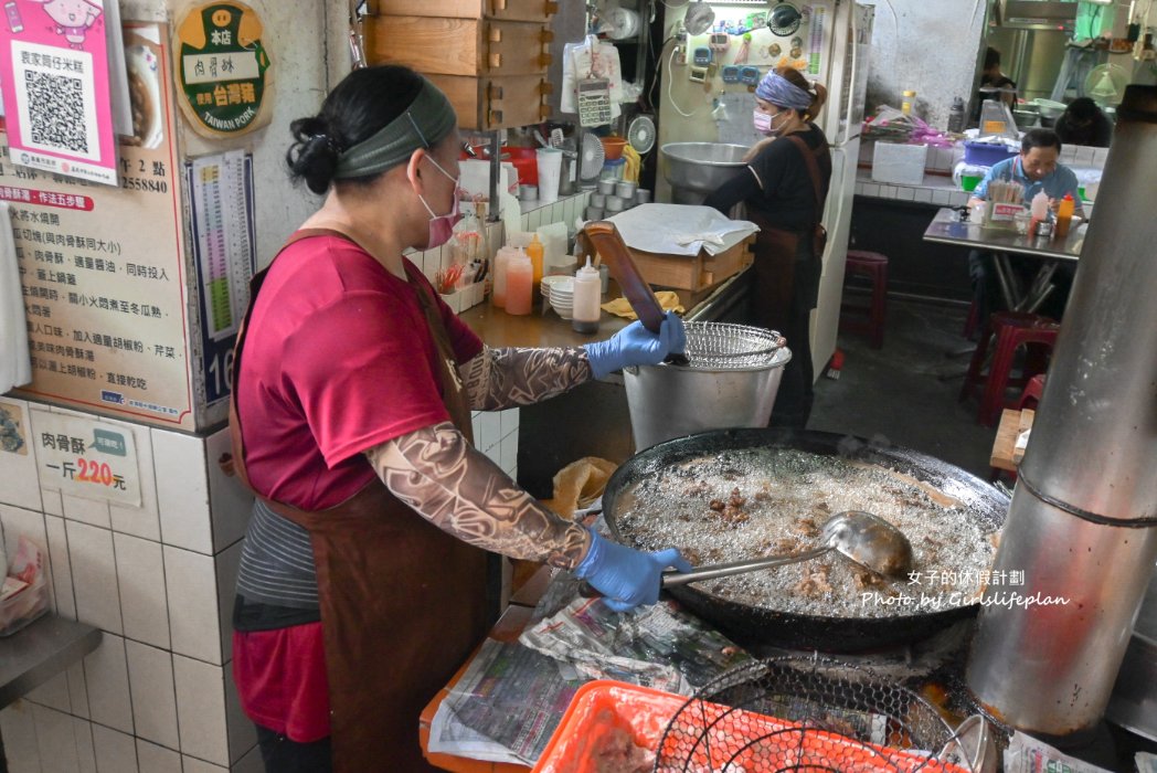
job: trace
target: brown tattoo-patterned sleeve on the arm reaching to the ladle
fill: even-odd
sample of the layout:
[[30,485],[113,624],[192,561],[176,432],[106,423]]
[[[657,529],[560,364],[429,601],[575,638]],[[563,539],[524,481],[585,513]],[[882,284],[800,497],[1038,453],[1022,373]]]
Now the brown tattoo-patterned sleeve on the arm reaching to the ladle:
[[366,456],[395,496],[471,545],[565,569],[587,552],[585,529],[543,507],[448,421]]

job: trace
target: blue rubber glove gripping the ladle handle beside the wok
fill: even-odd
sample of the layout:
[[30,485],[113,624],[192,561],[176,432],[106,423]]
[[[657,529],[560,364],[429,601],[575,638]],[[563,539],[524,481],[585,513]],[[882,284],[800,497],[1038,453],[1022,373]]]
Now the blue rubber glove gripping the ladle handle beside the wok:
[[612,610],[627,612],[658,601],[659,580],[668,567],[691,572],[691,564],[675,547],[643,553],[591,531],[590,549],[575,574],[603,594]]

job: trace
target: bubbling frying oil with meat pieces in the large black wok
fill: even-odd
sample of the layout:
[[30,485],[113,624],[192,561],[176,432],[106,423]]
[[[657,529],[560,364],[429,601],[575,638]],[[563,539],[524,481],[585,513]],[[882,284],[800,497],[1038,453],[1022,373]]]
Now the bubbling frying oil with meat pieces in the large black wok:
[[706,580],[721,598],[795,614],[878,618],[972,603],[995,546],[978,518],[927,484],[883,466],[791,449],[724,451],[670,465],[617,501],[628,544],[679,547],[693,565],[797,553],[842,510],[867,510],[912,543],[914,570],[887,580],[833,552],[796,565]]

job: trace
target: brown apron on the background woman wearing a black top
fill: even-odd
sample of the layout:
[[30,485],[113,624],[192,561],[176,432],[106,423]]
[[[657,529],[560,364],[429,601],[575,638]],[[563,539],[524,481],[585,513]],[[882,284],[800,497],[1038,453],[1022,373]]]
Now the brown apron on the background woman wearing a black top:
[[[821,142],[812,150],[802,138],[789,134],[783,139],[791,141],[803,154],[811,177],[811,184],[816,192],[816,219],[824,215],[823,183],[819,177],[819,164],[817,156],[827,153],[827,142]],[[769,327],[783,332],[789,326],[791,312],[793,287],[795,285],[795,262],[799,249],[799,240],[812,237],[812,259],[823,258],[826,233],[820,236],[823,226],[817,223],[816,233],[798,234],[783,230],[772,226],[759,212],[747,211],[749,219],[759,226],[759,234],[756,235],[754,249],[754,274],[756,293],[758,299],[754,305],[756,322],[762,327]]]

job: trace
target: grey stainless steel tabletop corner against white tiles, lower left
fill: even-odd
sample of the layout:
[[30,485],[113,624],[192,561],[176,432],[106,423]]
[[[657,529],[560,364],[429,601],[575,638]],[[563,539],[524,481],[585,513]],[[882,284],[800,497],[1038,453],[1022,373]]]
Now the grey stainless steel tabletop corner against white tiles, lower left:
[[0,708],[44,684],[101,643],[101,631],[45,614],[0,639]]

